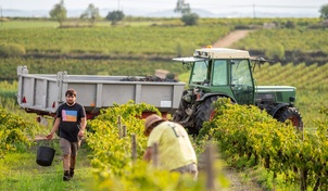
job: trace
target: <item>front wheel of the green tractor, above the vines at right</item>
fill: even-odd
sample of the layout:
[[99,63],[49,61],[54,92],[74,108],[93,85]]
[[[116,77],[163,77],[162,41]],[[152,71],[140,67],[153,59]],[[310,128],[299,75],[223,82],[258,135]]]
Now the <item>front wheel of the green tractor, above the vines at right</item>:
[[282,123],[291,123],[299,130],[303,130],[303,120],[300,112],[295,107],[285,107],[277,115],[277,119]]

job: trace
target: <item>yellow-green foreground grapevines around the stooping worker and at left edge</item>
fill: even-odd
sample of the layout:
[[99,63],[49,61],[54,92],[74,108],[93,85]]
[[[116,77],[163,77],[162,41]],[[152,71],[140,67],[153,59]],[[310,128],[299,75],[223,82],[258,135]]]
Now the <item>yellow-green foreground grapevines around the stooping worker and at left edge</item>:
[[[307,132],[278,123],[254,106],[218,100],[216,109],[216,116],[204,124],[193,142],[199,158],[202,157],[205,145],[212,142],[232,166],[240,161],[249,161],[248,166],[264,166],[272,173],[274,181],[282,179],[285,187],[290,189],[327,189],[327,120],[317,120],[317,131]],[[129,102],[103,110],[101,115],[89,123],[87,144],[97,182],[91,190],[205,190],[209,177],[204,168],[200,168],[199,181],[193,181],[191,176],[161,170],[142,161],[147,138],[142,136],[143,119],[140,116],[144,110],[160,114],[154,106]],[[327,109],[321,109],[320,113],[328,115]],[[8,115],[4,110],[1,111],[1,116],[5,126],[1,128],[0,135],[4,135],[4,131],[20,131],[11,127],[24,127],[20,124],[11,125],[12,119],[18,123],[22,120]],[[23,144],[30,144],[24,136],[26,133],[17,135],[23,138]],[[15,140],[17,138],[14,137]],[[13,144],[13,139],[4,137],[1,140],[4,145]],[[11,147],[1,150],[5,154]],[[201,167],[206,164],[202,164],[200,160]],[[220,174],[217,168],[218,179],[214,179],[214,184],[218,190],[227,187],[227,180]]]

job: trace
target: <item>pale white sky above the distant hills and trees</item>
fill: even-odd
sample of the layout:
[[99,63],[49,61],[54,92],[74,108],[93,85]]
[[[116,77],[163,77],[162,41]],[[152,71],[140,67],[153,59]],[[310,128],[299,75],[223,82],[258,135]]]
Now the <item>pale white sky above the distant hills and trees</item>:
[[[51,10],[60,0],[0,0],[1,9],[12,10]],[[227,11],[243,12],[315,12],[317,14],[327,0],[185,0],[191,9],[203,9],[212,13]],[[90,3],[99,9],[139,10],[159,12],[174,10],[177,0],[64,0],[67,10],[86,10]]]

